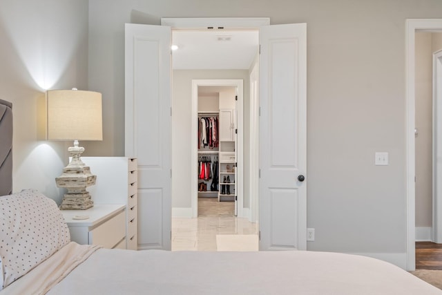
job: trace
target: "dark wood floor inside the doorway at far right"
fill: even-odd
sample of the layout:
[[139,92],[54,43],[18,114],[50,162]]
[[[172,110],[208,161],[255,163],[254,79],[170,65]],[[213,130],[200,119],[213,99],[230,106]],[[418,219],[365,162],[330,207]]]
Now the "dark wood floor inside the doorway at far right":
[[416,269],[442,270],[442,244],[416,242]]

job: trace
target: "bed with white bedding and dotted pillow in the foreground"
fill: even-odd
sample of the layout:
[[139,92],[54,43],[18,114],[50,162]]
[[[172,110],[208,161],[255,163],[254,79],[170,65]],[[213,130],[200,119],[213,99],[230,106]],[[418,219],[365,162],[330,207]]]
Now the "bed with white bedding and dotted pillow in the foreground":
[[70,242],[57,204],[34,190],[0,195],[0,269],[0,295],[442,294],[403,269],[365,256],[78,245]]

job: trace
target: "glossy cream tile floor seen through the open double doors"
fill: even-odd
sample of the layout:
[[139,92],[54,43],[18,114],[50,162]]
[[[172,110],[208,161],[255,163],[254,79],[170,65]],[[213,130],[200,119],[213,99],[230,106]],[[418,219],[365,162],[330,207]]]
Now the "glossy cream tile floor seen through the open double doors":
[[258,234],[258,223],[233,216],[234,205],[198,198],[198,218],[172,218],[172,251],[217,251],[217,234]]

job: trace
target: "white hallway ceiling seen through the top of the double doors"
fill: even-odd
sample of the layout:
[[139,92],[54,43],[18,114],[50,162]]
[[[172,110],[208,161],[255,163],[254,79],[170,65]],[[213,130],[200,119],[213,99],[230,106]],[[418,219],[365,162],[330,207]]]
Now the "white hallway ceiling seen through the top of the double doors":
[[258,30],[173,30],[173,69],[249,69],[258,52]]

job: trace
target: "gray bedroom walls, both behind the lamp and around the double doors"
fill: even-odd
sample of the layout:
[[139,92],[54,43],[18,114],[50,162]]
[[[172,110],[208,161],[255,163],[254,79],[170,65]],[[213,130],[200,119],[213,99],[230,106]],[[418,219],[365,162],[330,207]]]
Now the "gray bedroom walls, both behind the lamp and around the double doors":
[[[90,0],[89,15],[86,3],[0,2],[0,95],[17,110],[16,189],[42,187],[55,195],[52,180],[64,162],[59,144],[37,146],[35,99],[44,91],[28,62],[62,69],[56,88],[102,92],[104,141],[85,144],[86,152],[124,155],[125,22],[159,23],[160,17],[306,22],[307,226],[316,229],[316,241],[307,247],[405,253],[405,19],[441,17],[442,1]],[[64,55],[67,64],[61,62]],[[49,151],[41,152],[45,146]],[[374,166],[376,151],[390,153],[389,166]]]

